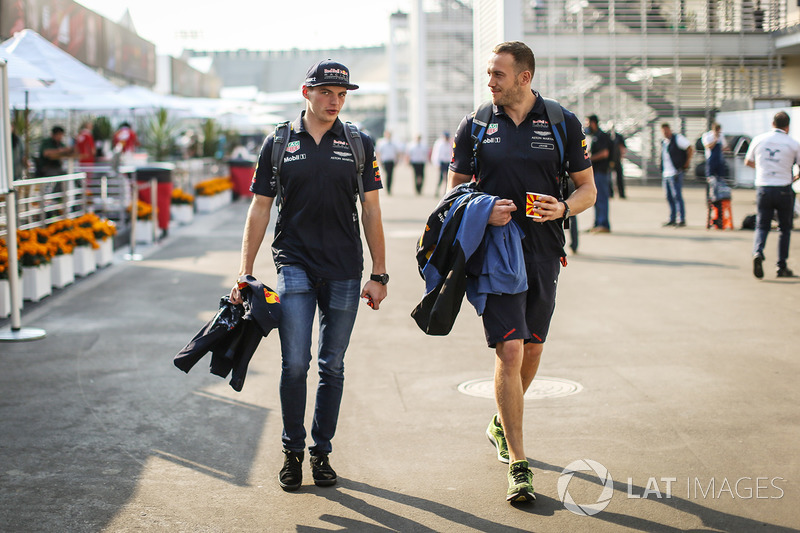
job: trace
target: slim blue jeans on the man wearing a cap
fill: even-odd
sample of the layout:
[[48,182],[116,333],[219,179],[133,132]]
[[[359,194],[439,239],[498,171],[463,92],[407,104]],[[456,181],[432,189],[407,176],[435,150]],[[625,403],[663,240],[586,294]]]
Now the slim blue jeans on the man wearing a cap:
[[302,452],[306,429],[306,376],[311,363],[311,329],[319,308],[319,386],[311,426],[311,455],[331,452],[339,405],[344,390],[344,352],[358,311],[361,280],[326,280],[310,277],[299,266],[284,266],[278,273],[282,317],[281,411],[283,447]]

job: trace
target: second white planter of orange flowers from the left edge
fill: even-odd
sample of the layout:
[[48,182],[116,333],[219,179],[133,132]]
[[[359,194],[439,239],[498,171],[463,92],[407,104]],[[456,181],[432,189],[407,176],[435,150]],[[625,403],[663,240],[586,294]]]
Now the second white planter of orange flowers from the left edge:
[[50,232],[46,228],[17,231],[17,255],[22,265],[22,298],[38,302],[53,292],[48,245]]

